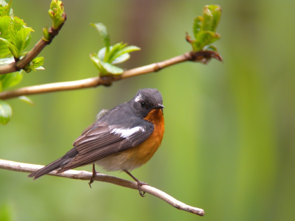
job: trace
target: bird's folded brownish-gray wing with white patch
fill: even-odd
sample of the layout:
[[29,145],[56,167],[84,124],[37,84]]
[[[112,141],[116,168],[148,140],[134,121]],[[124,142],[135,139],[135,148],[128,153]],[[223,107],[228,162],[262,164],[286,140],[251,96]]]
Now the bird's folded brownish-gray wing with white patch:
[[[138,122],[138,119],[136,120]],[[105,122],[93,123],[73,143],[78,154],[62,166],[58,173],[94,163],[142,143],[152,134],[154,125],[146,120],[140,120],[138,126],[127,129],[118,125],[107,125]]]

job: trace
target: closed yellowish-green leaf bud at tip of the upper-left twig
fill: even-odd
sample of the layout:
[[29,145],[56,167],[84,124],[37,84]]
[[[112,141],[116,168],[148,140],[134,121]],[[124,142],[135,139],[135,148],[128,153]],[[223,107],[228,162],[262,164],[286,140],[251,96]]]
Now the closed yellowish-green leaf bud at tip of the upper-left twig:
[[61,1],[57,1],[57,0],[51,1],[48,14],[52,19],[52,22],[53,22],[52,26],[54,29],[57,29],[65,21],[63,11],[64,11],[64,7]]

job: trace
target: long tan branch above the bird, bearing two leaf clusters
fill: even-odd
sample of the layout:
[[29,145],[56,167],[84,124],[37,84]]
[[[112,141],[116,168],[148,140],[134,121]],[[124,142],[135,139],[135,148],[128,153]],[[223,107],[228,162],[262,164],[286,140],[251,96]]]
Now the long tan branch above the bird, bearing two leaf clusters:
[[218,61],[222,61],[222,58],[217,52],[214,51],[199,51],[199,52],[187,52],[183,55],[179,55],[165,61],[160,61],[150,65],[145,65],[133,69],[129,69],[123,72],[121,75],[107,75],[103,77],[92,77],[76,81],[66,81],[57,83],[47,83],[41,85],[28,86],[24,88],[18,88],[11,91],[4,91],[0,93],[0,99],[5,100],[13,97],[19,97],[23,95],[32,95],[56,91],[75,90],[81,88],[97,87],[99,85],[111,85],[112,82],[134,77],[140,74],[147,74],[151,72],[157,72],[170,65],[175,65],[184,61],[194,61],[207,63],[211,58],[215,58]]

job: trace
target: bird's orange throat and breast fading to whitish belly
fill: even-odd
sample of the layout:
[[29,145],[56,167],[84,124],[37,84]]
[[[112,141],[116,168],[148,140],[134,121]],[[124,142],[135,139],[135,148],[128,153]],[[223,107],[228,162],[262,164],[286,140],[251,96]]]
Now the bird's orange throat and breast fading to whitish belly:
[[[164,116],[161,109],[154,109],[144,118],[155,125],[153,133],[141,144],[128,150],[107,156],[102,167],[106,170],[133,170],[147,163],[161,145],[164,135]],[[101,162],[102,163],[102,162]]]

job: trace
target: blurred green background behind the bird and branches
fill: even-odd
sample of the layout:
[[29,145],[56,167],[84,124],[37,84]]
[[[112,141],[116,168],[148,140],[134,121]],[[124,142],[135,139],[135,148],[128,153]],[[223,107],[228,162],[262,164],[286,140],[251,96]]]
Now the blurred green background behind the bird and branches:
[[[189,51],[185,32],[206,4],[223,10],[214,45],[224,62],[186,62],[157,73],[89,88],[8,100],[13,117],[0,126],[0,158],[48,164],[68,151],[99,110],[157,88],[166,132],[155,156],[133,175],[188,205],[198,217],[138,191],[109,183],[0,170],[5,220],[293,220],[295,217],[295,1],[70,1],[67,21],[46,47],[46,70],[21,86],[97,75],[89,53],[103,47],[89,25],[104,23],[111,43],[137,45],[126,69]],[[35,30],[28,50],[51,25],[50,0],[14,0],[16,16]],[[79,169],[91,171],[91,166]],[[102,171],[104,172],[104,171]],[[130,179],[123,173],[108,173]]]

